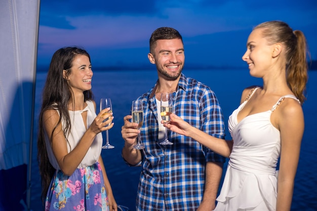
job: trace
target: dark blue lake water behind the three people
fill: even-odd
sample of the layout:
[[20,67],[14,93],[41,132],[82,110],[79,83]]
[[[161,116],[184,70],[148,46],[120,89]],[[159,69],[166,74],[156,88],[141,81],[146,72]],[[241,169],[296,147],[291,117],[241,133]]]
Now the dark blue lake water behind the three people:
[[[249,75],[249,70],[183,70],[187,77],[195,78],[216,93],[223,110],[226,139],[230,139],[227,120],[231,112],[240,104],[241,92],[250,85],[261,85],[262,81]],[[309,71],[307,101],[303,105],[305,132],[301,145],[300,160],[295,178],[292,210],[317,210],[317,71]],[[34,140],[32,152],[32,187],[31,209],[42,210],[41,183],[39,181],[36,160],[37,119],[41,102],[42,88],[46,73],[36,74]],[[132,100],[151,88],[157,80],[157,73],[152,70],[142,71],[94,71],[92,86],[99,108],[99,99],[109,97],[112,101],[114,126],[109,130],[109,142],[113,149],[103,149],[108,179],[118,204],[135,210],[135,199],[139,182],[140,167],[128,167],[121,157],[124,140],[121,137],[123,117],[128,115]],[[104,135],[104,134],[103,134]],[[225,170],[225,168],[224,168]],[[224,171],[225,173],[225,171]]]

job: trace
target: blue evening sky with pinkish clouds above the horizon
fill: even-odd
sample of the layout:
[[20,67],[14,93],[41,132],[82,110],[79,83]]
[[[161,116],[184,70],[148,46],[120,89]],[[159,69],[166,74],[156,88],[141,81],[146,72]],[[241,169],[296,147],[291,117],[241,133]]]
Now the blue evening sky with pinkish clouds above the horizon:
[[162,26],[183,36],[185,67],[244,67],[252,28],[270,20],[302,30],[317,59],[315,0],[41,1],[38,65],[48,66],[63,46],[80,46],[93,67],[151,67],[149,37]]

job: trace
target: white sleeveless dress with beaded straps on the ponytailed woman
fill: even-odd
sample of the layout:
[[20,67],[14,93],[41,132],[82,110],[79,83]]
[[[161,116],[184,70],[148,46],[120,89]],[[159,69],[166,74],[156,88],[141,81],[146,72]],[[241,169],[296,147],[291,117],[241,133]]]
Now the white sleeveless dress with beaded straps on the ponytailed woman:
[[234,142],[214,210],[276,209],[281,136],[270,116],[285,97],[298,100],[294,95],[285,95],[271,110],[247,116],[238,123],[237,114],[247,99],[229,117],[228,129]]

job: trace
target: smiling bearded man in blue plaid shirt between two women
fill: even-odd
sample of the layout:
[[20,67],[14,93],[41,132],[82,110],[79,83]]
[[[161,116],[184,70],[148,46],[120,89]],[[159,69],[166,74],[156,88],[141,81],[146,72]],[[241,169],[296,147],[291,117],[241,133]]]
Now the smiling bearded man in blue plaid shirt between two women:
[[[138,98],[143,101],[140,130],[132,116],[124,118],[122,155],[130,166],[142,166],[137,210],[213,210],[225,158],[195,140],[169,131],[172,145],[161,145],[160,97],[173,93],[173,113],[190,125],[224,138],[223,115],[215,93],[205,84],[181,73],[184,66],[182,37],[173,28],[156,29],[150,38],[148,59],[159,79]],[[144,149],[135,149],[140,133]]]

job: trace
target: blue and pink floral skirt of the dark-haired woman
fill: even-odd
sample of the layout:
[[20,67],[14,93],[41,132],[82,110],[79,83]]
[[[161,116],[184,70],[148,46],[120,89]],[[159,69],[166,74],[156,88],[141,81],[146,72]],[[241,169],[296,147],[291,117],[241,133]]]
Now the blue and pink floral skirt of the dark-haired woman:
[[57,170],[46,196],[45,210],[109,210],[100,164],[76,169],[71,176]]

